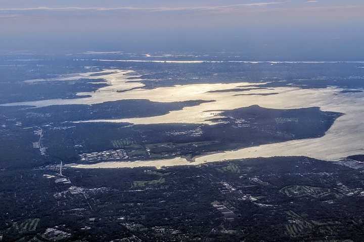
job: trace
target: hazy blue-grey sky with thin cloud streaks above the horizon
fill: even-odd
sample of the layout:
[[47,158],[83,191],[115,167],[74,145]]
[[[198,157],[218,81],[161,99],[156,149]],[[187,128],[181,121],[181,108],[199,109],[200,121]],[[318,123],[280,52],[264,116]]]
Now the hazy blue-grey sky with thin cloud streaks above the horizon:
[[0,0],[0,49],[364,59],[362,0]]

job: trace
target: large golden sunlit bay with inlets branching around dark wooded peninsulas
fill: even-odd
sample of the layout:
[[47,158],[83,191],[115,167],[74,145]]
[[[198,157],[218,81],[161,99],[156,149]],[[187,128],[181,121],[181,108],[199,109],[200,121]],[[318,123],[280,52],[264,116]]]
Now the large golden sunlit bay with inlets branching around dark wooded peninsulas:
[[[112,74],[108,74],[113,72]],[[234,151],[218,152],[214,154],[195,157],[191,163],[182,157],[165,160],[134,161],[134,162],[102,162],[89,165],[74,165],[79,168],[112,168],[112,167],[136,167],[136,166],[170,166],[185,164],[201,164],[204,162],[239,159],[249,157],[294,156],[305,155],[323,160],[337,160],[352,154],[364,153],[364,93],[340,93],[342,89],[329,87],[325,89],[300,89],[294,87],[281,87],[274,89],[256,89],[244,92],[219,92],[210,93],[212,90],[244,88],[241,86],[252,83],[229,84],[191,84],[173,87],[161,87],[155,89],[143,89],[138,79],[127,78],[131,71],[105,70],[104,76],[91,77],[90,73],[63,77],[62,80],[77,80],[80,77],[89,79],[105,79],[112,86],[99,90],[127,90],[126,92],[89,92],[78,95],[90,95],[91,97],[79,99],[51,99],[31,102],[9,103],[5,105],[60,105],[60,104],[95,104],[105,101],[122,99],[149,99],[158,102],[174,102],[188,100],[214,100],[202,103],[198,106],[185,107],[182,110],[171,111],[165,115],[125,118],[112,120],[89,120],[87,122],[128,122],[132,124],[161,124],[161,123],[201,123],[211,124],[206,119],[218,115],[218,110],[235,109],[253,104],[266,108],[301,108],[321,107],[323,111],[335,111],[345,113],[339,117],[324,137],[294,140],[275,144],[266,144],[256,147],[238,149]],[[60,80],[59,78],[57,80]],[[41,81],[41,80],[32,80]],[[134,82],[137,81],[137,82]],[[257,84],[258,85],[258,84]],[[259,96],[236,94],[249,93],[278,93],[276,95]]]

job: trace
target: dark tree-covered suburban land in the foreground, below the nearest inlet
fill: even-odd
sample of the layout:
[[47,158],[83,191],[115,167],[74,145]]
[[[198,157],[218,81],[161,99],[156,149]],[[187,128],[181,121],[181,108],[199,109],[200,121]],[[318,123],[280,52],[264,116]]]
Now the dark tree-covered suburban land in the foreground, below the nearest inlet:
[[[70,184],[55,183],[57,173],[53,166],[1,171],[6,241],[41,238],[55,226],[70,234],[62,241],[360,241],[364,232],[364,176],[334,162],[272,157],[163,169],[65,167]],[[161,177],[163,183],[134,186]],[[283,188],[298,190],[291,196]],[[235,220],[224,220],[213,202]]]

